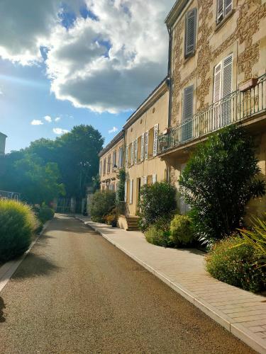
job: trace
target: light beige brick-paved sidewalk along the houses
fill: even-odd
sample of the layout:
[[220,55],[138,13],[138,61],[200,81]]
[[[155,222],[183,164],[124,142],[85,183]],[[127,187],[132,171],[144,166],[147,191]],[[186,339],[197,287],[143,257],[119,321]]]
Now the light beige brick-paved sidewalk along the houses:
[[204,253],[149,244],[141,232],[126,232],[77,216],[259,353],[266,353],[266,297],[211,278]]

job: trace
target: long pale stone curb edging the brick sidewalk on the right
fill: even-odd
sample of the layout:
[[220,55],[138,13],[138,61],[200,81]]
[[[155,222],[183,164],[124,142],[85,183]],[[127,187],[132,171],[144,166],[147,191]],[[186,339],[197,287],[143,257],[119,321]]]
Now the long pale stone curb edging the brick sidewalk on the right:
[[221,313],[218,311],[218,309],[215,309],[214,307],[211,306],[208,302],[204,301],[203,299],[200,299],[199,297],[195,297],[192,292],[187,290],[185,287],[183,287],[181,284],[177,282],[172,282],[169,278],[167,278],[167,275],[158,272],[155,270],[153,267],[148,265],[147,263],[143,262],[140,258],[134,256],[131,252],[127,251],[126,249],[123,249],[119,244],[117,244],[115,241],[112,239],[109,239],[104,232],[101,232],[101,229],[96,227],[93,222],[89,221],[84,221],[83,219],[74,216],[76,219],[79,221],[83,222],[84,224],[87,224],[89,227],[92,227],[94,231],[98,232],[101,234],[101,236],[104,237],[107,241],[109,241],[113,246],[116,246],[116,248],[120,249],[123,251],[123,253],[126,253],[127,256],[131,257],[134,261],[142,265],[145,269],[147,269],[150,273],[153,273],[157,278],[165,282],[168,286],[170,286],[174,291],[176,291],[179,295],[182,295],[185,299],[187,299],[189,302],[194,304],[198,309],[201,309],[204,314],[207,316],[211,317],[214,321],[216,321],[218,324],[223,326],[225,329],[227,329],[229,332],[231,332],[235,337],[239,338],[241,341],[246,343],[248,346],[253,348],[254,350],[257,351],[257,353],[260,354],[266,354],[266,347],[265,347],[265,341],[262,340],[262,338],[259,338],[258,336],[254,336],[254,333],[246,329],[244,326],[238,323],[233,323],[231,319],[229,319],[228,316],[225,314]]

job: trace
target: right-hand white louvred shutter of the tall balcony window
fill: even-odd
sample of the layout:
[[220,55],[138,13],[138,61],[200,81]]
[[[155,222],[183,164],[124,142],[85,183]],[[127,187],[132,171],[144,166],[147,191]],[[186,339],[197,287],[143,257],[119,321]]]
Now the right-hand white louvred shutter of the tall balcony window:
[[[231,122],[231,97],[232,92],[232,72],[233,55],[223,59],[223,79],[222,79],[222,125],[228,125]],[[227,98],[226,98],[227,96]]]

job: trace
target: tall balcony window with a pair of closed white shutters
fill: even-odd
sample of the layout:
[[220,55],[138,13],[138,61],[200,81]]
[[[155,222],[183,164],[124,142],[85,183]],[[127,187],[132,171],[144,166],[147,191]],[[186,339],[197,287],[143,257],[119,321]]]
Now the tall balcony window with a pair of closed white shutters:
[[214,129],[231,122],[232,76],[233,55],[229,55],[214,68]]

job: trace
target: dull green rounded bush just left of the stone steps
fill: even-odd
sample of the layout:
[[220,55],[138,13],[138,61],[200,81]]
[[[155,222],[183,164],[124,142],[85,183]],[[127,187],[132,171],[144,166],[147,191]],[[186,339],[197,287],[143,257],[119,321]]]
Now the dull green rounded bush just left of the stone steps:
[[104,222],[104,217],[113,210],[116,202],[116,193],[110,190],[101,190],[92,196],[90,214],[92,221]]

